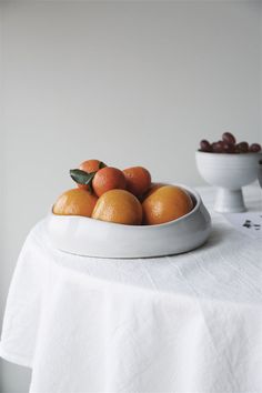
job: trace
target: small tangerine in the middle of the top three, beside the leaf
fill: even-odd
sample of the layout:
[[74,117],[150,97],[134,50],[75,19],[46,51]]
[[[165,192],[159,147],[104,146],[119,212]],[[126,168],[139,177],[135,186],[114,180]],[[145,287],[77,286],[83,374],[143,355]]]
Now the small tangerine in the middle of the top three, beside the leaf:
[[124,190],[127,181],[122,171],[117,168],[105,167],[100,169],[93,178],[92,187],[98,196],[113,189]]

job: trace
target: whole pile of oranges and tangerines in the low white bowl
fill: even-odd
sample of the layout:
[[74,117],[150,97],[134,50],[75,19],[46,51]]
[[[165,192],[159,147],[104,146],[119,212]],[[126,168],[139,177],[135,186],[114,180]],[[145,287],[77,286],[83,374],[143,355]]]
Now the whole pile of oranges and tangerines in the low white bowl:
[[53,205],[54,214],[155,225],[175,220],[193,208],[185,190],[152,183],[150,172],[142,167],[120,170],[99,160],[88,160],[71,170],[70,175],[77,188],[59,196]]

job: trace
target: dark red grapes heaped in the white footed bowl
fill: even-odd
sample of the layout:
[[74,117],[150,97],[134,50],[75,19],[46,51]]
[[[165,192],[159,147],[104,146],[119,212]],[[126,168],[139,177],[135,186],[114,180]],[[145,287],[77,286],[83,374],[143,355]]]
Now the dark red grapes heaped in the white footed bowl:
[[210,143],[205,139],[200,142],[200,151],[209,153],[258,153],[261,151],[259,143],[248,142],[236,143],[235,137],[231,132],[224,132],[222,140]]

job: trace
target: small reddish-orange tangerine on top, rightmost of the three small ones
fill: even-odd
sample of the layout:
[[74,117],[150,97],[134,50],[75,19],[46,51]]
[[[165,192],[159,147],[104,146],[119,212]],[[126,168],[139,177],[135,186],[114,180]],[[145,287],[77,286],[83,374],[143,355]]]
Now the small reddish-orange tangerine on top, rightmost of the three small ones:
[[123,170],[127,179],[127,190],[139,196],[148,191],[151,184],[151,174],[143,167],[132,167]]

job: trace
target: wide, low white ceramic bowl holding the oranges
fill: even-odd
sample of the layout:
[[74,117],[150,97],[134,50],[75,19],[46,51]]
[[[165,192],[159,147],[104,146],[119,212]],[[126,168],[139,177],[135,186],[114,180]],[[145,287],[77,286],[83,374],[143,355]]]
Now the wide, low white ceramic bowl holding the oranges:
[[200,195],[184,188],[194,201],[182,218],[159,225],[123,225],[77,215],[49,214],[52,244],[62,251],[98,258],[147,258],[178,254],[205,242],[211,219]]

